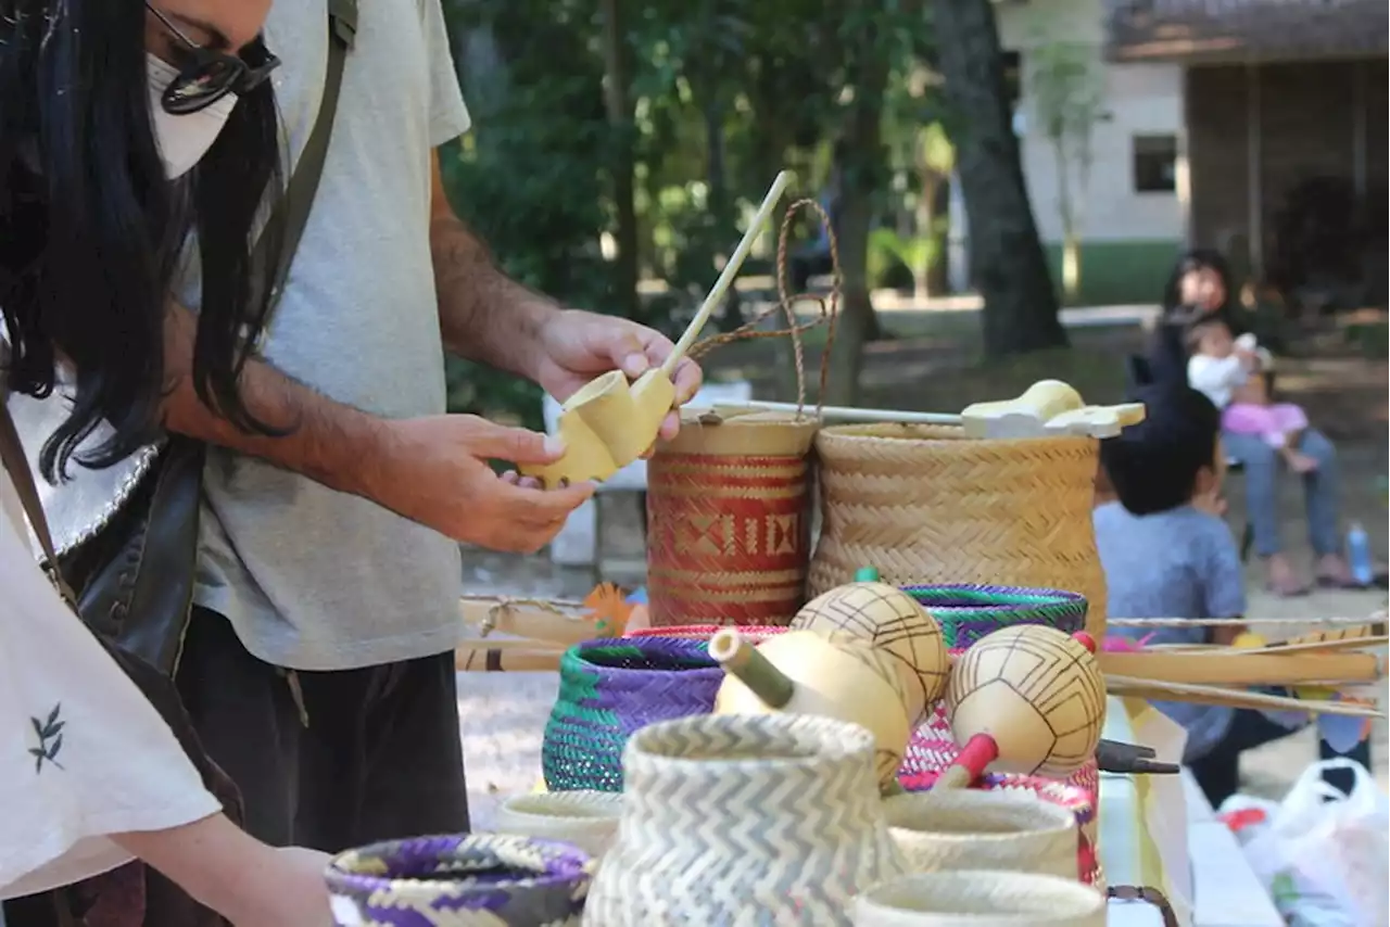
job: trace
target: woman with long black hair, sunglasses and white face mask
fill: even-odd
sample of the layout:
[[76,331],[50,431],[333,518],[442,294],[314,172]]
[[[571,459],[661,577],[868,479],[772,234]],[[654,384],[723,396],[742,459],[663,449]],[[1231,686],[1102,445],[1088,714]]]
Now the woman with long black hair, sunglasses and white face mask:
[[[167,293],[193,232],[204,277],[193,385],[227,418],[268,431],[236,389],[279,260],[252,260],[259,210],[281,186],[268,7],[0,0],[0,400],[72,396],[43,449],[46,478],[114,464],[157,436]],[[157,923],[133,896],[60,912],[47,894],[140,858],[234,923],[328,923],[324,858],[265,846],[229,820],[49,584],[19,514],[29,474],[8,477],[0,898],[25,898],[0,921]]]

